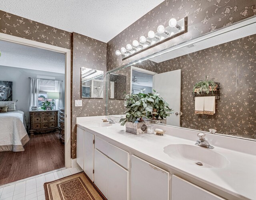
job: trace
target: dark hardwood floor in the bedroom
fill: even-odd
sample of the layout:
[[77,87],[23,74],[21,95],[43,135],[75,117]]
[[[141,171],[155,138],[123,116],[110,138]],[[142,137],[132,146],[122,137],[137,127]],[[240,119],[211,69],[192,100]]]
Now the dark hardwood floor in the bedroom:
[[25,151],[0,152],[0,185],[65,167],[58,131],[29,137]]

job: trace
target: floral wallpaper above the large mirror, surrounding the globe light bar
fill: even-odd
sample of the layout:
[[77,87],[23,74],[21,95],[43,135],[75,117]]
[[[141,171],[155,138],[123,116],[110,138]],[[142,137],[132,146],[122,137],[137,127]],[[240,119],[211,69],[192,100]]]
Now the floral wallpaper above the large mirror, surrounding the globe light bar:
[[[161,49],[214,31],[256,15],[255,0],[165,0],[139,20],[111,39],[107,46],[107,70],[146,57]],[[188,17],[188,32],[138,55],[122,61],[115,51],[132,43],[148,31],[156,31],[158,25],[167,25],[170,18]]]

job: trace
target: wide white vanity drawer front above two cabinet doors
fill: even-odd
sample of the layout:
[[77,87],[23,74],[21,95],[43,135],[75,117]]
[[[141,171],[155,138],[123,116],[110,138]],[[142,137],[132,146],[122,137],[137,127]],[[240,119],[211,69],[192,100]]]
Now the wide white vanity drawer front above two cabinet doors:
[[124,151],[97,136],[95,137],[95,148],[122,167],[129,169],[129,153],[127,151]]

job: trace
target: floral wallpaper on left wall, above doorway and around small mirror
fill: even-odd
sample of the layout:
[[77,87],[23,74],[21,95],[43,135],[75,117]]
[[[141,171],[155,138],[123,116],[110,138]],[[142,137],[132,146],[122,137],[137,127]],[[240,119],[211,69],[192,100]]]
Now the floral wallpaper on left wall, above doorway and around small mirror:
[[[76,117],[104,115],[106,108],[105,98],[81,98],[80,67],[99,69],[106,72],[106,43],[1,10],[0,31],[1,33],[71,49],[71,157],[73,159],[76,158]],[[83,106],[74,107],[75,99],[82,99]]]

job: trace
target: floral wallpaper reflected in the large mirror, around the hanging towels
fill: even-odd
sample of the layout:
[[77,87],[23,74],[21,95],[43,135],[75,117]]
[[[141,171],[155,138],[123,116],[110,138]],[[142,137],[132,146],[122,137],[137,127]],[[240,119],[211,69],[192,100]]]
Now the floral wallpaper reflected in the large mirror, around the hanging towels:
[[[158,63],[156,69],[158,73],[182,71],[181,127],[214,128],[218,133],[256,139],[255,67],[256,35],[251,35]],[[220,100],[216,100],[213,116],[194,114],[193,85],[205,75],[220,82]],[[111,105],[108,112],[122,114],[124,101]]]

